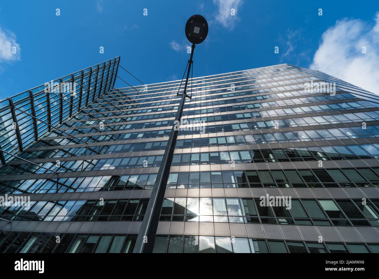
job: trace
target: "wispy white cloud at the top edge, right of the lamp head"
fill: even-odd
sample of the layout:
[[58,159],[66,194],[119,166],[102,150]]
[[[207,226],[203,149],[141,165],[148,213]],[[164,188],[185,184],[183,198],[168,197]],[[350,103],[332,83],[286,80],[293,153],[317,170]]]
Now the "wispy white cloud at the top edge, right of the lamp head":
[[[218,6],[216,21],[223,27],[233,29],[238,20],[238,8],[242,5],[242,0],[213,0]],[[231,15],[231,9],[235,9],[235,15]]]

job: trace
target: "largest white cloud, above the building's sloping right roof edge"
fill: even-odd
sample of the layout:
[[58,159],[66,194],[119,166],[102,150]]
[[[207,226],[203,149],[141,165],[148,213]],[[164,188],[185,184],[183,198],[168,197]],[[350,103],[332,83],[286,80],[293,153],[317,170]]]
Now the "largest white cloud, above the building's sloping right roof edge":
[[310,68],[379,94],[378,65],[379,12],[373,27],[359,19],[338,20],[323,33]]

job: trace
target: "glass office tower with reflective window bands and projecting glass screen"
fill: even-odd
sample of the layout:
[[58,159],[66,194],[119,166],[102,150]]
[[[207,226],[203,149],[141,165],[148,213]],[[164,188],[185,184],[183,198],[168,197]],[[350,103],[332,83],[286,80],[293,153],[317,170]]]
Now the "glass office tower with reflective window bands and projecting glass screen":
[[[184,85],[114,89],[119,61],[0,102],[0,196],[30,198],[0,252],[133,251]],[[379,97],[290,64],[187,92],[154,252],[379,252]]]

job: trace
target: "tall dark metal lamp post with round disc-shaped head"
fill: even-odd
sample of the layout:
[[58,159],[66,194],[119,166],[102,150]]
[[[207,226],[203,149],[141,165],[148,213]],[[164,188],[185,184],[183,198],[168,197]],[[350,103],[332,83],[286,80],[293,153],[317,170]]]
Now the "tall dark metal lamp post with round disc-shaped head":
[[[139,234],[133,249],[133,253],[151,253],[153,251],[153,245],[155,241],[155,235],[157,234],[159,216],[164,200],[164,193],[166,191],[167,180],[171,168],[172,157],[174,155],[175,143],[178,136],[179,125],[182,117],[184,103],[186,98],[191,98],[186,94],[189,71],[191,69],[193,52],[196,44],[200,44],[207,38],[208,23],[204,17],[200,15],[191,16],[185,26],[186,37],[189,42],[192,43],[191,56],[189,58],[189,67],[187,71],[186,82],[184,85],[184,91],[182,93],[182,99],[180,106],[175,117],[174,126],[171,129],[170,137],[164,155],[159,167],[157,179],[155,180],[154,188],[151,193],[149,203],[147,204],[146,213],[139,230]],[[179,88],[180,89],[180,88]],[[179,95],[179,94],[178,94]]]

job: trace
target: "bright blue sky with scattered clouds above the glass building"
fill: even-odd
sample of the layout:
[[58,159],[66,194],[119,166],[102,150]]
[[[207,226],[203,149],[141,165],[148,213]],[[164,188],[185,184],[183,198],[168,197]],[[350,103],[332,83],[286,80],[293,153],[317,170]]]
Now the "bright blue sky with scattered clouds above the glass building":
[[[193,14],[209,23],[208,37],[194,53],[194,76],[290,63],[375,91],[378,11],[378,1],[349,0],[2,2],[0,99],[118,55],[144,83],[179,79],[189,57],[184,25]],[[126,72],[119,74],[138,84]],[[125,86],[120,80],[116,85]]]

